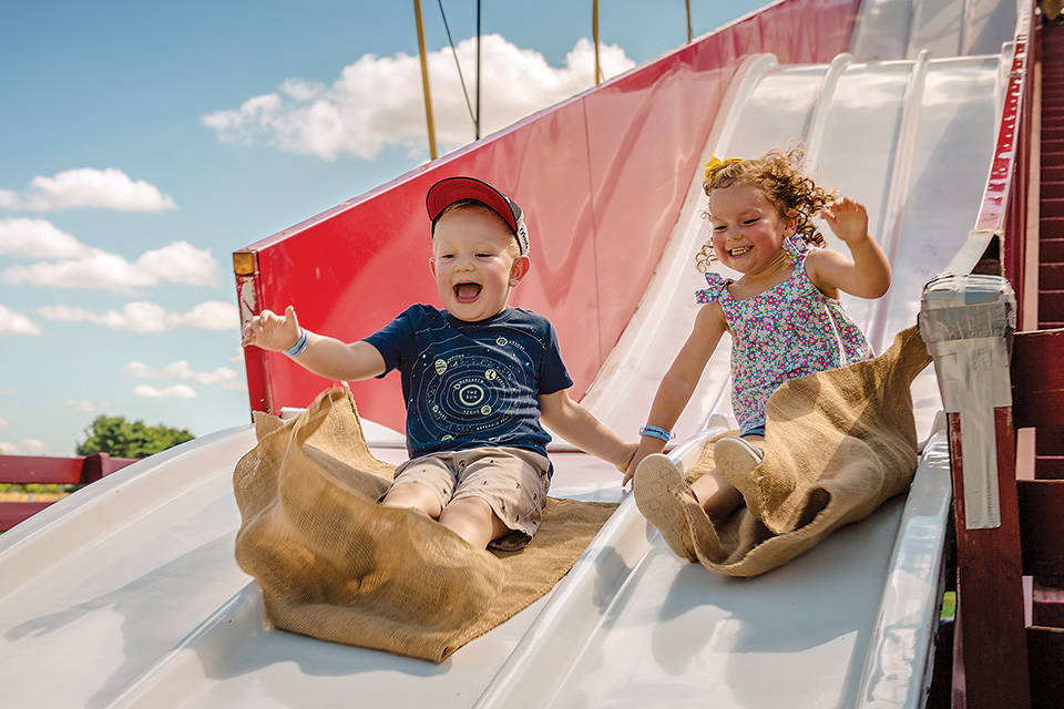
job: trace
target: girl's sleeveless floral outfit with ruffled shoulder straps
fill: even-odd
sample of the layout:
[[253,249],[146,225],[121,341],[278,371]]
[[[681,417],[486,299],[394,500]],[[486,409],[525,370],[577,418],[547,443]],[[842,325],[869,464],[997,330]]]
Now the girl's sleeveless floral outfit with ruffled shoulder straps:
[[765,425],[768,397],[785,381],[872,357],[860,328],[809,280],[806,256],[812,249],[797,235],[784,240],[795,263],[790,278],[744,300],[733,300],[719,274],[706,274],[709,287],[698,302],[717,301],[732,330],[732,409],[740,434]]

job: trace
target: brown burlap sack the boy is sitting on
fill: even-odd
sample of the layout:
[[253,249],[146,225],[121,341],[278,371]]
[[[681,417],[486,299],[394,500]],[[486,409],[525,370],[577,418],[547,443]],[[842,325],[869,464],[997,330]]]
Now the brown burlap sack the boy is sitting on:
[[233,475],[236,559],[270,623],[325,640],[440,662],[550,590],[616,507],[551,499],[532,544],[489,553],[377,504],[393,466],[370,453],[348,392],[255,423]]

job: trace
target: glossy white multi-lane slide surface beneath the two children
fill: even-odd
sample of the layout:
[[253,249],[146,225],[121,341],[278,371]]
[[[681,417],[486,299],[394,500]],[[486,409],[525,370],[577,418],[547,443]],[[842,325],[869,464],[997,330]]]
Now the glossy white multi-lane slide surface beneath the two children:
[[[947,22],[950,12],[965,21]],[[893,284],[846,307],[877,351],[915,323],[923,284],[972,227],[1012,60],[999,35],[1010,40],[1015,22],[1010,2],[867,2],[853,54],[797,66],[749,58],[717,116],[706,160],[800,141],[820,184],[868,206]],[[693,322],[700,183],[692,175],[655,277],[583,400],[617,431],[645,422]],[[727,338],[698,392],[673,453],[687,464],[727,424]],[[621,506],[550,594],[440,665],[269,627],[234,561],[232,473],[254,432],[203,436],[0,536],[0,705],[922,706],[951,494],[930,368],[913,399],[930,441],[910,494],[750,579],[674,556],[612,466],[556,450],[553,495]],[[378,458],[405,458],[399,434],[367,429]]]

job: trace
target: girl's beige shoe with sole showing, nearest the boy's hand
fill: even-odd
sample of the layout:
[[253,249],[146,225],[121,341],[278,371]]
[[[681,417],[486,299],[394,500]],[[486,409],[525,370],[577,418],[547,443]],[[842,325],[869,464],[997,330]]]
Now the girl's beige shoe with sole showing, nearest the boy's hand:
[[684,476],[666,455],[647,455],[635,469],[632,482],[635,505],[662,534],[672,552],[689,562],[697,562],[690,523],[684,508],[698,505]]

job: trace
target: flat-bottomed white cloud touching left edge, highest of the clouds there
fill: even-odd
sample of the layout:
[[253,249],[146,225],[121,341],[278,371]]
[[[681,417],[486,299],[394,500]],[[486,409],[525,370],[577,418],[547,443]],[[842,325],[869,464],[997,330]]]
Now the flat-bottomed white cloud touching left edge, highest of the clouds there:
[[79,167],[52,177],[38,175],[23,192],[0,189],[0,208],[49,212],[90,207],[120,212],[160,212],[177,205],[155,185],[133,181],[121,169]]

